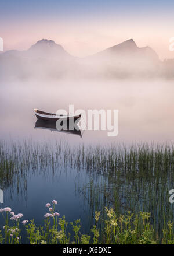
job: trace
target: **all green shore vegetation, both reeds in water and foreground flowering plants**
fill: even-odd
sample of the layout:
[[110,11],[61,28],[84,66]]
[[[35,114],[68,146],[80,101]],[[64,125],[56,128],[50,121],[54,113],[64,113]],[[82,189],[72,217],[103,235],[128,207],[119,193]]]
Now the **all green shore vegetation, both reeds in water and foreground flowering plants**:
[[[142,143],[128,147],[116,144],[70,146],[66,142],[55,142],[54,145],[48,142],[0,142],[0,186],[3,190],[19,183],[20,178],[23,186],[27,187],[24,180],[29,173],[36,171],[45,174],[50,170],[53,173],[76,170],[90,175],[91,181],[81,184],[78,191],[84,201],[88,197],[92,222],[95,224],[92,229],[89,225],[89,234],[82,236],[79,235],[80,220],[68,224],[64,217],[48,216],[45,220],[47,226],[42,227],[35,226],[32,220],[24,225],[33,237],[31,243],[41,243],[43,240],[43,243],[174,244],[171,222],[173,205],[169,203],[174,176],[173,143]],[[9,217],[8,211],[2,213],[6,214],[5,219]],[[57,224],[48,226],[52,220]],[[0,242],[11,243],[7,238],[4,240],[5,236],[9,236],[7,230],[18,229],[16,225],[8,225],[9,222],[0,233],[3,234],[3,238],[0,235]],[[71,239],[63,233],[63,240],[61,235],[67,225],[72,226]],[[14,233],[19,241],[13,239],[13,243],[21,243],[20,233],[17,232]],[[46,240],[45,236],[50,238]],[[53,241],[54,237],[59,238]]]

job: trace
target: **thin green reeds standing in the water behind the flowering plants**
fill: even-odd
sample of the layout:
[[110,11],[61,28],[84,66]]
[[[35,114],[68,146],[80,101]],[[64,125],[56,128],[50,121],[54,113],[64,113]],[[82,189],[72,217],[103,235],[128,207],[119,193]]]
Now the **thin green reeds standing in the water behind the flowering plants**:
[[[76,170],[91,177],[78,193],[88,202],[91,214],[104,206],[114,211],[151,212],[150,222],[158,236],[173,218],[169,190],[173,188],[174,145],[138,144],[70,146],[68,143],[0,142],[0,185],[26,185],[32,173]],[[95,177],[95,178],[94,178]],[[27,189],[27,188],[26,188]],[[94,216],[93,216],[94,217]]]

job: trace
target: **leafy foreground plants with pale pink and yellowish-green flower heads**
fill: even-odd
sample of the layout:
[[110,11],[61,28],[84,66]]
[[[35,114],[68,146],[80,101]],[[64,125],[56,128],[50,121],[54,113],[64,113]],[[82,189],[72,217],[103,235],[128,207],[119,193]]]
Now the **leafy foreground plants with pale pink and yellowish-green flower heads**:
[[[105,208],[106,219],[102,219],[103,226],[99,227],[100,212],[95,212],[95,224],[90,229],[90,235],[81,233],[81,220],[68,223],[63,215],[58,218],[55,212],[56,200],[52,205],[45,206],[48,213],[44,215],[45,223],[37,227],[33,220],[20,220],[22,213],[17,215],[9,207],[1,208],[5,225],[0,230],[0,244],[21,244],[21,229],[25,229],[27,239],[25,244],[173,244],[173,222],[168,222],[162,229],[162,240],[154,232],[150,223],[150,213],[139,212],[134,215],[128,211],[126,215],[117,216],[113,208]],[[71,225],[72,234],[67,233],[67,226]]]

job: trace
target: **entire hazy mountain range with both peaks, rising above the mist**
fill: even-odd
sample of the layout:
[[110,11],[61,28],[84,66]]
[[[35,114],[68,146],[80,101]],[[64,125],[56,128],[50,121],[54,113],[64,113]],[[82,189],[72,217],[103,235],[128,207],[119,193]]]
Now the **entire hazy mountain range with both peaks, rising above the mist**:
[[174,60],[160,61],[150,47],[137,47],[133,39],[85,58],[74,57],[52,40],[42,39],[26,51],[0,55],[0,76],[30,78],[173,78]]

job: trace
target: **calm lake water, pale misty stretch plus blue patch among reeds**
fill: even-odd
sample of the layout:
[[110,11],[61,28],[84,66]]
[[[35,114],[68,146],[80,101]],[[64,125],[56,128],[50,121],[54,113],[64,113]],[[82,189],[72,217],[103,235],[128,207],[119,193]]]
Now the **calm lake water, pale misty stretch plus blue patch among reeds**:
[[[69,145],[111,145],[111,143],[171,143],[174,139],[174,87],[173,82],[3,82],[0,87],[1,141],[42,142],[49,145],[66,141]],[[36,129],[34,108],[55,113],[59,108],[117,109],[119,110],[119,133],[108,137],[107,131],[84,131],[82,137],[48,129]],[[23,213],[24,219],[35,219],[43,224],[45,204],[56,199],[56,209],[68,221],[81,219],[83,232],[89,232],[93,207],[90,191],[84,187],[98,184],[100,174],[93,175],[71,169],[28,171],[13,184],[2,188],[4,203],[15,213]],[[171,185],[171,184],[170,184]],[[100,204],[98,202],[97,204]],[[147,209],[148,211],[148,209]],[[3,225],[0,218],[0,225]]]

